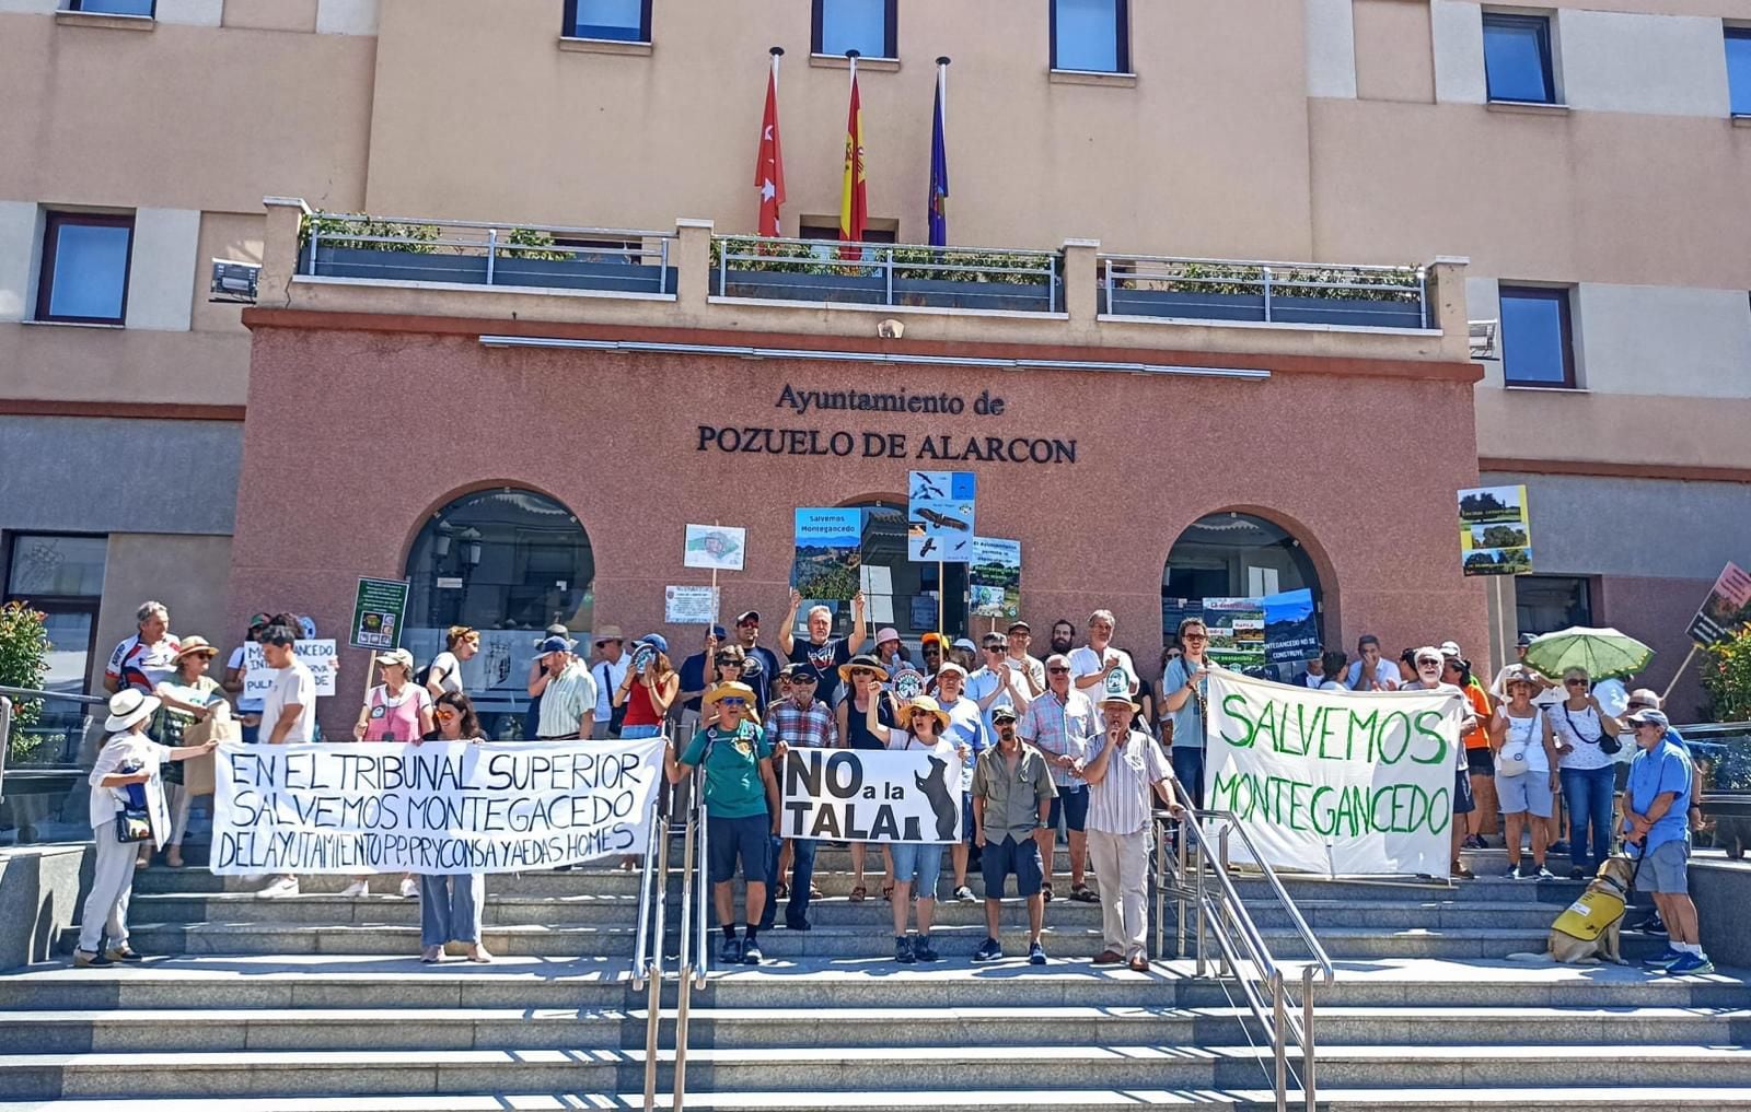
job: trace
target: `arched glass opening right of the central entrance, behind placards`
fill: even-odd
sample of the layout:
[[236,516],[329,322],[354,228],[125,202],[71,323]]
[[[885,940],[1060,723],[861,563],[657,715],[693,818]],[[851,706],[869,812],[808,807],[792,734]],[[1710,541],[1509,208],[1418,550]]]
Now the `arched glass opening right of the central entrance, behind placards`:
[[1168,553],[1161,570],[1164,640],[1171,642],[1180,619],[1192,614],[1210,626],[1212,656],[1257,675],[1287,678],[1324,643],[1313,558],[1289,530],[1241,511],[1199,518]]

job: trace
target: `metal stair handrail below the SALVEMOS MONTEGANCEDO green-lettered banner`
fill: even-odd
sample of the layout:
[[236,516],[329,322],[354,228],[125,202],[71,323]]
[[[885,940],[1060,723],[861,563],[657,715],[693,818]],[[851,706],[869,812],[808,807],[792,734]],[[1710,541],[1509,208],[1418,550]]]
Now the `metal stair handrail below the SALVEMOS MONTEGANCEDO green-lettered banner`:
[[[1203,822],[1201,822],[1203,820]],[[1205,822],[1215,820],[1220,831],[1212,846]],[[1170,844],[1171,832],[1177,831],[1175,844]],[[1271,895],[1287,909],[1289,921],[1301,935],[1303,944],[1313,956],[1301,967],[1301,1000],[1289,993],[1289,981],[1283,969],[1271,956],[1259,927],[1252,921],[1234,881],[1229,878],[1229,836],[1240,837],[1248,864],[1254,864],[1264,876]],[[1313,974],[1320,972],[1324,984],[1336,979],[1326,948],[1313,937],[1313,930],[1303,918],[1301,909],[1289,897],[1276,872],[1247,837],[1245,827],[1229,811],[1196,811],[1182,820],[1156,817],[1156,953],[1166,956],[1166,902],[1173,897],[1178,902],[1177,953],[1187,956],[1187,911],[1196,916],[1194,956],[1199,977],[1208,976],[1210,953],[1206,942],[1215,944],[1220,976],[1233,979],[1247,1002],[1247,1009],[1259,1023],[1271,1044],[1275,1063],[1273,1088],[1276,1091],[1278,1112],[1287,1112],[1290,1079],[1297,1072],[1289,1065],[1290,1049],[1299,1053],[1299,1088],[1306,1112],[1315,1112],[1315,1035],[1313,1035]]]

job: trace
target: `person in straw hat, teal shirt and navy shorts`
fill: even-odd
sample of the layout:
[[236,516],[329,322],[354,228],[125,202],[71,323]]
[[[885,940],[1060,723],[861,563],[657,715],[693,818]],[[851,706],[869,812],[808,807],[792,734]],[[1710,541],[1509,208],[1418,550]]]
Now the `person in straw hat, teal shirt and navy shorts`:
[[[709,726],[693,734],[686,750],[664,747],[669,783],[681,783],[695,768],[704,771],[707,876],[718,927],[723,928],[720,960],[725,965],[760,965],[760,913],[765,909],[772,836],[777,834],[777,776],[774,747],[755,722],[755,692],[748,684],[718,684],[706,692],[700,710]],[[735,937],[735,864],[742,865],[742,937]]]

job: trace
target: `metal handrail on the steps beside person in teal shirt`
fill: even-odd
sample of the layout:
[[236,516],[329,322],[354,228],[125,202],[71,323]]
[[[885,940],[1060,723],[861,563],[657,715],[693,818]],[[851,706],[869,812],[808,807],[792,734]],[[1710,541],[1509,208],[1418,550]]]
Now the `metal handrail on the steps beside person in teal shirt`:
[[[681,921],[676,953],[676,1018],[674,1018],[674,1112],[686,1100],[686,1039],[692,997],[706,988],[711,969],[707,907],[711,885],[706,883],[709,836],[706,832],[704,778],[695,769],[688,782],[686,834],[681,839]],[[678,794],[678,792],[674,792]],[[674,797],[671,794],[671,799]],[[644,1112],[657,1109],[657,1054],[662,1032],[664,949],[669,925],[669,858],[672,822],[658,815],[644,846],[644,864],[639,874],[639,927],[632,951],[632,991],[646,993],[644,1018]]]

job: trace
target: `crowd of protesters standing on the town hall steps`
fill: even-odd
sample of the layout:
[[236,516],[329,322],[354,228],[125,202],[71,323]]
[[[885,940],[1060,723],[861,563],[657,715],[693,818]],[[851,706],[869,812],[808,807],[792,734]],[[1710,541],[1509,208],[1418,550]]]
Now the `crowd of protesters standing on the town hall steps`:
[[[805,615],[807,638],[793,636],[800,596],[791,591],[777,652],[760,643],[762,615],[735,617],[734,636],[707,626],[700,650],[676,666],[669,643],[651,633],[627,642],[616,626],[594,635],[594,663],[576,654],[566,626],[550,626],[536,642],[527,677],[531,698],[524,736],[538,740],[653,738],[669,734],[665,780],[674,815],[686,811],[692,769],[702,769],[711,824],[707,872],[723,930],[723,962],[758,965],[758,935],[772,930],[784,906],[788,930],[809,930],[811,900],[819,897],[814,862],[819,843],[781,839],[774,757],[788,748],[911,750],[960,759],[961,841],[942,844],[883,843],[881,892],[891,900],[895,960],[935,962],[935,899],[944,872],[949,893],[977,902],[968,872],[984,879],[988,937],[975,962],[998,960],[998,909],[1009,878],[1028,906],[1028,960],[1047,960],[1045,904],[1058,897],[1054,858],[1059,831],[1068,850],[1072,900],[1101,906],[1103,949],[1098,965],[1145,969],[1143,923],[1149,832],[1154,803],[1178,813],[1203,804],[1206,689],[1222,668],[1210,656],[1210,631],[1198,617],[1171,631],[1159,657],[1159,684],[1142,675],[1131,654],[1114,645],[1117,621],[1094,610],[1077,626],[1059,619],[1049,652],[1031,654],[1028,622],[1009,622],[981,638],[949,640],[926,633],[914,664],[898,631],[868,640],[865,600],[853,598],[849,636],[833,636],[833,612]],[[259,694],[245,684],[249,654],[231,652],[222,682],[205,675],[219,649],[200,636],[179,638],[161,603],[138,608],[138,633],[116,647],[105,685],[116,692],[107,720],[110,740],[91,773],[91,824],[100,846],[98,879],[86,906],[75,960],[81,965],[138,960],[128,946],[126,907],[137,867],[152,848],[182,867],[182,839],[191,794],[179,769],[205,755],[214,741],[182,745],[191,727],[229,717],[236,698],[242,740],[306,743],[317,740],[315,680],[294,650],[303,635],[291,614],[256,614],[247,640],[259,643],[271,684]],[[1529,638],[1522,638],[1522,657]],[[480,650],[480,633],[454,626],[445,649],[418,670],[413,654],[396,649],[375,657],[382,684],[366,692],[352,736],[361,743],[424,740],[483,741],[464,692],[464,664]],[[907,673],[912,673],[911,677]],[[1609,680],[1593,685],[1583,670],[1548,678],[1509,664],[1487,689],[1455,642],[1406,649],[1394,661],[1375,636],[1355,656],[1326,649],[1313,654],[1290,684],[1317,691],[1446,691],[1464,701],[1462,745],[1455,752],[1455,879],[1473,879],[1460,860],[1485,848],[1485,832],[1501,813],[1508,876],[1551,878],[1550,853],[1567,853],[1571,876],[1590,874],[1611,853],[1614,837],[1642,857],[1639,886],[1655,895],[1670,930],[1662,963],[1697,972],[1707,958],[1697,944],[1697,913],[1684,886],[1688,829],[1695,817],[1697,776],[1683,738],[1670,729],[1649,691],[1625,691]],[[1613,687],[1614,684],[1614,687]],[[1635,757],[1620,783],[1616,740],[1632,734]],[[1614,827],[1616,792],[1625,789],[1623,820]],[[1558,836],[1562,806],[1567,841]],[[128,841],[112,831],[133,822]],[[1522,832],[1530,841],[1523,860]],[[868,897],[870,850],[851,843],[851,902]],[[734,879],[744,888],[742,932],[735,930]],[[1096,885],[1089,883],[1089,876]],[[343,895],[366,895],[359,876]],[[483,878],[404,876],[399,893],[420,899],[422,960],[438,962],[450,942],[469,960],[489,962],[482,944]],[[261,897],[296,897],[296,876],[268,878]],[[914,913],[916,904],[916,913]],[[909,918],[914,916],[916,918]],[[916,935],[909,932],[916,921]],[[107,937],[107,948],[98,941]]]

